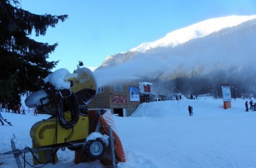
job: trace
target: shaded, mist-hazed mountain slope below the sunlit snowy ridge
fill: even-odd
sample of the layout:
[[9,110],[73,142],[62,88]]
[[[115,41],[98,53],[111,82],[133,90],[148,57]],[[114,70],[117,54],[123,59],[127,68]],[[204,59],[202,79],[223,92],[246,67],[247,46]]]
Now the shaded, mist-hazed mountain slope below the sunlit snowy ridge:
[[256,82],[255,43],[256,18],[176,46],[158,43],[157,47],[143,52],[109,56],[96,70],[96,75],[111,80],[139,77],[152,82],[154,88],[159,87],[156,90],[166,88],[165,93],[176,90],[204,94],[213,88],[220,93],[221,83],[240,87],[241,92],[252,92]]

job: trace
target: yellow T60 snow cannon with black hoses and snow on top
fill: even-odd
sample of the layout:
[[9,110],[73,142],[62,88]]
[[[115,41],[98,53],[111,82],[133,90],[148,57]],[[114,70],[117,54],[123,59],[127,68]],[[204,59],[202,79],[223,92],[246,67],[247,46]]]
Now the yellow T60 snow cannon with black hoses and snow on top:
[[[100,159],[106,155],[108,146],[106,136],[112,134],[108,129],[112,129],[114,122],[108,125],[99,120],[106,110],[88,110],[88,104],[96,96],[98,86],[92,71],[88,68],[80,68],[82,62],[79,63],[78,69],[73,74],[62,68],[47,76],[44,79],[44,89],[31,94],[25,100],[26,106],[40,108],[42,112],[52,116],[36,122],[30,130],[33,148],[52,147],[34,153],[34,164],[58,162],[56,152],[60,147],[62,150],[67,147],[76,153],[82,150],[82,156],[76,155],[77,158],[75,156],[76,163]],[[98,133],[100,130],[101,134]],[[92,137],[91,134],[97,134],[98,138],[88,140]],[[120,141],[116,130],[114,136],[115,142]],[[113,138],[113,135],[109,138]],[[119,155],[117,161],[124,162],[122,144],[117,144],[116,149],[111,153],[112,160],[113,154],[117,153]],[[114,141],[111,146],[114,146]]]

